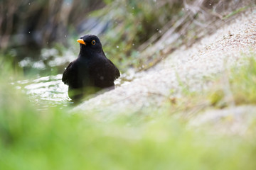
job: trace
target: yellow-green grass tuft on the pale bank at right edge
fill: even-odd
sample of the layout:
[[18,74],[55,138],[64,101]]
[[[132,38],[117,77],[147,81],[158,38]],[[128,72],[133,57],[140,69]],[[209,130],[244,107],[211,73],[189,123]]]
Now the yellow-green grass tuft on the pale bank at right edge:
[[245,64],[234,66],[223,77],[215,81],[208,94],[214,106],[256,104],[256,60],[255,53],[247,55]]

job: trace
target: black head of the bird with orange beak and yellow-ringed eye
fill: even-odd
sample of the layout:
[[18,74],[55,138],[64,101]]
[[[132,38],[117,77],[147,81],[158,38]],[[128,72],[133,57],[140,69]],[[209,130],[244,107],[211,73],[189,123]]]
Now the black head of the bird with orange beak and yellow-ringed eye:
[[82,53],[102,52],[102,44],[96,35],[84,35],[77,41],[80,43],[80,52]]

